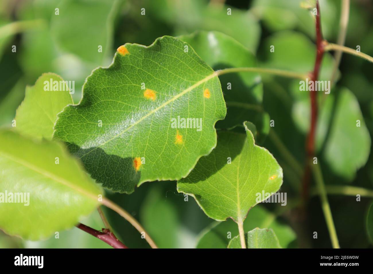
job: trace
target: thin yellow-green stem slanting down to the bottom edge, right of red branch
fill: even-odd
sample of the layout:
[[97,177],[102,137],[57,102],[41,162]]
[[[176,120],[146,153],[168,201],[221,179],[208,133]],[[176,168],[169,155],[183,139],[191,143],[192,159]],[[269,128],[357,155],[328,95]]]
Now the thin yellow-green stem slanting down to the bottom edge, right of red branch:
[[332,211],[330,210],[330,205],[327,200],[325,183],[323,180],[321,169],[319,167],[319,164],[310,163],[310,165],[312,166],[314,178],[316,180],[317,189],[319,191],[319,195],[321,199],[321,207],[324,212],[326,225],[329,230],[330,240],[332,241],[332,246],[333,248],[339,248],[338,237],[337,237],[337,233],[336,233],[334,222],[333,222]]

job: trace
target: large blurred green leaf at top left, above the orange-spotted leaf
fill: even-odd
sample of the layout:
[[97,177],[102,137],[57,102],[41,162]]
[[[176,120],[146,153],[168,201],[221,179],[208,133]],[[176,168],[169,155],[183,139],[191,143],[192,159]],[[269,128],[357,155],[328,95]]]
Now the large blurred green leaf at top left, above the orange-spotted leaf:
[[[113,23],[121,0],[62,0],[52,17],[51,32],[57,46],[99,65],[111,54]],[[76,42],[77,37],[79,42]],[[98,51],[98,47],[102,51]]]

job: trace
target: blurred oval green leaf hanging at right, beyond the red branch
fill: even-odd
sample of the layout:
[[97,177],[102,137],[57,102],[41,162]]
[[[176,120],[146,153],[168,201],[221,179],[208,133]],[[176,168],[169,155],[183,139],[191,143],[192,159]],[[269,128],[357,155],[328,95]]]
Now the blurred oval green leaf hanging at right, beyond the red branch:
[[336,104],[324,156],[336,174],[351,181],[368,160],[371,139],[355,95],[342,88]]

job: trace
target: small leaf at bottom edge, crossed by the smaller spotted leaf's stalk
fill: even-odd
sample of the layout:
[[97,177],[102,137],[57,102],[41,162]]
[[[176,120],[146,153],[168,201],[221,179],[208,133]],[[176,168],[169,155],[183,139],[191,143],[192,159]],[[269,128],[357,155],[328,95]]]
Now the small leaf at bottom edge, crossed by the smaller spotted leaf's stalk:
[[[281,248],[279,240],[272,229],[253,229],[245,234],[247,248]],[[239,236],[234,237],[228,248],[241,248]]]

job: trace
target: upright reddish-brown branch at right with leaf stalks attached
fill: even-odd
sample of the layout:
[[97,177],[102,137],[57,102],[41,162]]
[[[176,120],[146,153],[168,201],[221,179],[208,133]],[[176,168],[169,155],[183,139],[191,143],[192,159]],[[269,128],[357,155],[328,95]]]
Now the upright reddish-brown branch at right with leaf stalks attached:
[[[319,72],[321,67],[321,62],[324,56],[324,47],[325,41],[323,39],[323,34],[321,31],[321,16],[320,16],[320,5],[319,1],[316,1],[316,60],[315,65],[313,68],[313,72],[311,73],[311,81],[315,83],[319,78]],[[308,199],[308,190],[310,186],[310,161],[314,157],[315,154],[315,136],[316,136],[316,124],[317,124],[317,94],[315,90],[310,91],[310,99],[311,99],[311,123],[310,123],[310,131],[308,132],[307,136],[307,143],[306,143],[306,163],[305,163],[305,170],[304,170],[304,177],[303,177],[303,199],[306,201]]]

